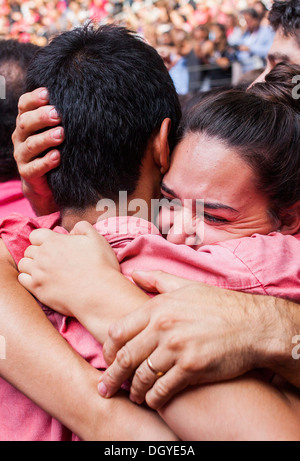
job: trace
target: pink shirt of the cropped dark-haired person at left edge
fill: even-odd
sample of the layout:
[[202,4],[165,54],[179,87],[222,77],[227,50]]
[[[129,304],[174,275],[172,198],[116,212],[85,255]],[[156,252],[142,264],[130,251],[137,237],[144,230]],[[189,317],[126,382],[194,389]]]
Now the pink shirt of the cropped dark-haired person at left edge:
[[0,183],[0,219],[11,213],[35,216],[30,203],[23,195],[22,184],[18,179]]

